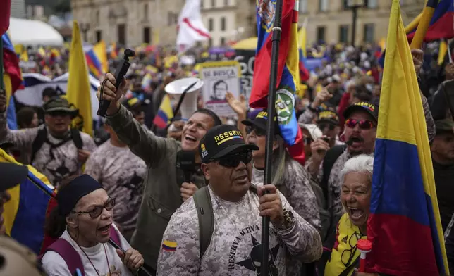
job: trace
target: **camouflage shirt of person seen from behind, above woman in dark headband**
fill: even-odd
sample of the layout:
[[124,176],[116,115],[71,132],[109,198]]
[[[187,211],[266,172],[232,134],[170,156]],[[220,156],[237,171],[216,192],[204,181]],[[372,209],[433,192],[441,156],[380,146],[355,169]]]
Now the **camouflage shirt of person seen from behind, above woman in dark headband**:
[[85,173],[101,183],[107,194],[116,199],[114,221],[120,225],[121,231],[135,230],[147,173],[145,161],[135,156],[128,146],[114,146],[109,139],[88,158]]

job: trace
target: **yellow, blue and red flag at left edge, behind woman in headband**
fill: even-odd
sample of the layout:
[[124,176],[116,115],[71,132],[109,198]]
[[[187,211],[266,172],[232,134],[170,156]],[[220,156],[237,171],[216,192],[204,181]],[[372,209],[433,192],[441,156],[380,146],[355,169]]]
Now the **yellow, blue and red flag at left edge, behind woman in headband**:
[[[12,156],[0,149],[0,162],[15,163]],[[46,216],[56,206],[55,190],[47,177],[28,165],[27,179],[8,189],[11,200],[4,205],[6,234],[32,249],[37,255],[54,242],[44,235]]]

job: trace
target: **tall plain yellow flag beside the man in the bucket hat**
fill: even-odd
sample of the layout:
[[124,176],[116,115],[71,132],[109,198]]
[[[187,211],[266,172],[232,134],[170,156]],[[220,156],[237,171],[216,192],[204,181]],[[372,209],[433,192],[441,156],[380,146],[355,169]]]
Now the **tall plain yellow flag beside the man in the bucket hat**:
[[92,135],[93,117],[92,103],[90,96],[90,82],[88,80],[87,64],[85,54],[82,49],[82,39],[80,39],[79,25],[74,21],[73,41],[69,55],[69,78],[68,92],[66,98],[69,103],[73,103],[79,109],[79,115],[73,120],[73,125],[83,132]]

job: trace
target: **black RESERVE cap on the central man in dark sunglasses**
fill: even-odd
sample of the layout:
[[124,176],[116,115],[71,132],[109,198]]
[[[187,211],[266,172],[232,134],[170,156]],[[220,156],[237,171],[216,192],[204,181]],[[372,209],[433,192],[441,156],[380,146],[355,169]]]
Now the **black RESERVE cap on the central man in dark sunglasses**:
[[258,146],[246,144],[243,134],[233,125],[217,125],[208,130],[200,141],[199,152],[202,163],[216,160],[239,149],[257,151]]

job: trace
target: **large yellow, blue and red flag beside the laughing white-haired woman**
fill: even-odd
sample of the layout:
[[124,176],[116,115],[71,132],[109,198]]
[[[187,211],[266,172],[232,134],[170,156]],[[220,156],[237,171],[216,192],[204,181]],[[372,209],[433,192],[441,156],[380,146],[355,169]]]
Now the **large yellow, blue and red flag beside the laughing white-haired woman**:
[[367,272],[448,275],[427,126],[399,0],[393,0],[386,44]]

